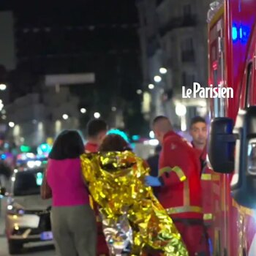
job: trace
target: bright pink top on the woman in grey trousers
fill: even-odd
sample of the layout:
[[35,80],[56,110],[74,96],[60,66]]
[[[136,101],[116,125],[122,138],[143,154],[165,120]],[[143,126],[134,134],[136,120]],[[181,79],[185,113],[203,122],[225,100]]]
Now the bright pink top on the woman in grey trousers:
[[46,178],[53,194],[53,206],[89,204],[89,192],[83,182],[80,159],[48,160]]

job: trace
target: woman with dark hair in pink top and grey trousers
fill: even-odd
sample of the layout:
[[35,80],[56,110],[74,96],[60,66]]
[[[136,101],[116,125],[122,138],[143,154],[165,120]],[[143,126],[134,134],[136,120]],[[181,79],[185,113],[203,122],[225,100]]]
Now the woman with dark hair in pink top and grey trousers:
[[97,224],[81,174],[83,153],[79,133],[65,130],[49,154],[46,180],[53,196],[51,225],[59,256],[96,255]]

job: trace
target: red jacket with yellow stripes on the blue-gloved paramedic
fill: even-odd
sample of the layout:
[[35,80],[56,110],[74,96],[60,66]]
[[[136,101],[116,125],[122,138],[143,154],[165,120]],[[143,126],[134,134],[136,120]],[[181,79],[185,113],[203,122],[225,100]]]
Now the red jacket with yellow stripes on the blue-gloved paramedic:
[[159,158],[159,202],[172,218],[203,219],[200,162],[194,148],[167,132]]

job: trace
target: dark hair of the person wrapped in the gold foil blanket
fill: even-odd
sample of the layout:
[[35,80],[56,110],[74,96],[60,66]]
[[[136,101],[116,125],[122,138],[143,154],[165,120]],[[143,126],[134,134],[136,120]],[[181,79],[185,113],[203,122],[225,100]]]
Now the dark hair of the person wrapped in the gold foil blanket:
[[124,140],[120,135],[110,134],[105,137],[101,146],[99,146],[99,151],[131,151],[129,148],[129,143]]

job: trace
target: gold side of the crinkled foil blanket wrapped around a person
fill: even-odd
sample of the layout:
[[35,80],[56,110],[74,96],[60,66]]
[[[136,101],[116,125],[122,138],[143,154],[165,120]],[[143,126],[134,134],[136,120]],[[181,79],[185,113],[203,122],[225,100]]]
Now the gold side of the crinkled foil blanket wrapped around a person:
[[151,187],[144,185],[149,169],[143,159],[125,151],[83,154],[81,162],[83,177],[102,215],[113,222],[127,216],[132,255],[143,255],[143,248],[151,247],[167,256],[188,256],[172,219]]

